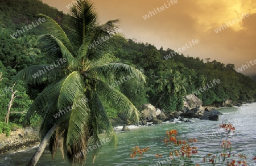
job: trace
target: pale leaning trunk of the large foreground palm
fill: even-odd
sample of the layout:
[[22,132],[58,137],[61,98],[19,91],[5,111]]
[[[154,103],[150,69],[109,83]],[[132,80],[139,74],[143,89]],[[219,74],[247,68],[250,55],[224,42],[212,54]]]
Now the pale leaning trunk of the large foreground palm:
[[52,134],[56,130],[56,125],[53,125],[51,130],[48,131],[46,136],[42,139],[41,143],[39,144],[38,150],[36,150],[34,156],[30,160],[30,162],[27,164],[27,166],[36,165],[38,163],[38,160],[40,159],[41,155],[44,152],[44,149],[46,148],[46,144],[49,141],[49,139],[52,137]]

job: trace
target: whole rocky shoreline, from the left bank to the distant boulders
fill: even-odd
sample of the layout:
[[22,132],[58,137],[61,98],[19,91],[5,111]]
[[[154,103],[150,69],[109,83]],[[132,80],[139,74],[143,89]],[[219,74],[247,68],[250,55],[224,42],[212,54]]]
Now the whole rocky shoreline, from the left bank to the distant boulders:
[[[179,111],[167,112],[163,109],[155,108],[151,104],[144,104],[142,106],[144,118],[140,121],[132,123],[123,114],[119,114],[116,118],[110,118],[110,121],[113,127],[123,126],[123,131],[129,131],[128,125],[143,126],[162,124],[162,122],[174,121],[175,119],[183,122],[191,122],[184,120],[184,118],[218,121],[218,116],[222,114],[216,110],[216,107],[202,107],[202,101],[195,95],[187,95],[184,100],[184,107]],[[238,104],[237,106],[241,105]],[[225,106],[232,107],[233,105],[231,103],[225,103]],[[9,137],[6,137],[5,134],[0,134],[0,155],[21,149],[26,150],[39,145],[39,143],[39,128],[27,127],[26,129],[16,129],[15,131],[11,131]]]

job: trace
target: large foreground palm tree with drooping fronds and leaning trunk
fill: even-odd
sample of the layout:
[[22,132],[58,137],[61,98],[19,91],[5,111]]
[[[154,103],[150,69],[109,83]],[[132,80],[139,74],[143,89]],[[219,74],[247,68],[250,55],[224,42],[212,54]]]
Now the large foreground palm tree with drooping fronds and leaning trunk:
[[[71,23],[66,25],[67,34],[54,20],[46,15],[46,27],[49,34],[39,40],[45,42],[50,56],[65,58],[63,65],[54,67],[47,73],[33,78],[38,70],[49,65],[35,65],[20,71],[14,80],[26,80],[28,84],[50,83],[32,103],[26,114],[29,121],[33,114],[43,118],[40,127],[42,141],[28,165],[35,165],[42,155],[47,142],[52,156],[58,147],[67,156],[70,163],[84,163],[86,154],[81,158],[75,155],[100,141],[98,134],[105,130],[110,144],[117,144],[115,133],[102,101],[126,114],[132,121],[138,121],[140,113],[121,92],[110,88],[112,80],[119,80],[127,75],[135,75],[138,83],[146,83],[146,76],[139,70],[120,62],[99,64],[106,53],[111,53],[114,37],[89,48],[90,44],[101,37],[115,35],[119,20],[98,24],[93,4],[88,0],[77,1],[71,8]],[[52,65],[52,64],[51,64]],[[86,102],[85,99],[88,99]],[[75,107],[71,107],[75,105]],[[53,115],[60,110],[67,110],[60,117]],[[93,150],[93,161],[99,148]]]

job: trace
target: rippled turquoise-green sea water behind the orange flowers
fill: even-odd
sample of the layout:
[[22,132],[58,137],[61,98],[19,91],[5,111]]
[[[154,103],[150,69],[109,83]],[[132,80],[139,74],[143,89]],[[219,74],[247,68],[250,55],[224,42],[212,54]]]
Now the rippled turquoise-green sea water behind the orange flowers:
[[[100,156],[98,156],[95,163],[92,163],[88,158],[86,165],[156,165],[159,161],[166,161],[166,164],[163,165],[170,165],[167,163],[167,161],[170,163],[170,160],[167,160],[166,157],[172,149],[163,143],[166,131],[170,129],[177,130],[177,138],[197,139],[198,142],[193,145],[198,148],[196,156],[199,158],[194,158],[193,161],[200,163],[200,165],[205,165],[202,157],[209,153],[216,154],[220,141],[225,139],[223,137],[224,131],[219,127],[221,122],[232,123],[236,127],[236,132],[232,133],[228,138],[232,142],[232,154],[245,154],[247,156],[247,164],[253,165],[251,159],[256,155],[256,103],[246,104],[242,107],[222,108],[219,111],[224,114],[220,116],[219,121],[205,121],[193,118],[193,123],[182,122],[174,124],[168,122],[155,126],[131,126],[131,131],[117,131],[118,147],[108,146],[102,142]],[[115,130],[119,129],[120,127]],[[138,160],[138,156],[134,159],[130,157],[130,152],[135,146],[150,148],[149,151],[144,153],[142,160]],[[16,152],[15,154],[0,155],[0,165],[26,165],[34,155],[35,150],[34,148]],[[156,159],[156,154],[162,154],[163,158]],[[57,153],[52,161],[51,154],[46,150],[37,165],[69,165],[69,163],[68,161],[63,161],[60,152]]]

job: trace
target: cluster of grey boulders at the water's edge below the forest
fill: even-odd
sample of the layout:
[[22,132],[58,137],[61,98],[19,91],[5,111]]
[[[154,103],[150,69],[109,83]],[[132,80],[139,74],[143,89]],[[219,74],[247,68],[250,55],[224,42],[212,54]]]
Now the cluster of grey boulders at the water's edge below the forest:
[[[184,118],[199,118],[200,120],[218,121],[218,116],[222,115],[214,107],[202,107],[203,102],[198,99],[195,95],[190,94],[184,97],[184,107],[182,110],[174,112],[165,112],[163,109],[160,110],[155,108],[151,104],[142,105],[143,119],[138,122],[130,122],[123,114],[119,114],[117,118],[112,118],[113,126],[123,125],[122,131],[129,131],[129,127],[126,125],[157,125],[162,122],[173,121],[180,119],[180,121],[191,122],[184,120]],[[229,103],[225,103],[229,104]]]

